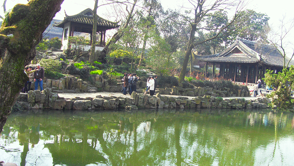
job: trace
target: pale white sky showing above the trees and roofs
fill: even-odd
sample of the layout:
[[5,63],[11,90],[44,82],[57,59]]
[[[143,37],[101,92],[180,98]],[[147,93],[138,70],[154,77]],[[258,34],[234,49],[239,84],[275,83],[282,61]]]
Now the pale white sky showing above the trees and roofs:
[[[0,0],[0,4],[3,4],[4,0]],[[101,2],[101,0],[99,0]],[[98,5],[100,4],[98,1]],[[163,8],[166,10],[168,8],[175,9],[182,4],[187,4],[188,0],[160,0]],[[27,0],[7,0],[6,9],[11,9],[17,3],[27,3]],[[279,31],[280,20],[285,17],[286,21],[294,19],[294,1],[293,0],[251,0],[247,2],[247,9],[253,9],[257,13],[265,13],[270,17],[269,25],[274,31]],[[56,14],[55,19],[63,20],[65,17],[64,11],[67,15],[74,15],[86,8],[94,8],[94,0],[64,0],[61,5],[61,10]],[[112,10],[109,6],[101,6],[98,8],[98,15],[102,18],[109,19],[110,21],[116,21],[115,17],[109,17],[109,11]],[[3,16],[3,9],[0,10],[0,15]],[[293,34],[288,36],[288,42],[294,38],[294,29],[292,29]],[[289,46],[292,47],[292,46]],[[294,48],[294,47],[293,47]],[[288,48],[289,50],[290,48]],[[290,49],[292,51],[292,49]]]

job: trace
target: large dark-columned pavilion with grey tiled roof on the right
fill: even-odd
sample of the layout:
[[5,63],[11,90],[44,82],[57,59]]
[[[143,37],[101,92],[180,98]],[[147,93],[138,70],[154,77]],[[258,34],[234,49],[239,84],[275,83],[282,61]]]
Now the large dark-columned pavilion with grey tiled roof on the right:
[[[195,55],[196,59],[213,65],[212,75],[215,77],[215,65],[220,64],[220,76],[234,82],[256,83],[265,76],[266,70],[278,73],[283,69],[284,59],[274,46],[261,44],[245,39],[237,39],[229,48],[214,55]],[[286,57],[286,63],[288,62]],[[294,65],[293,61],[289,63]]]

